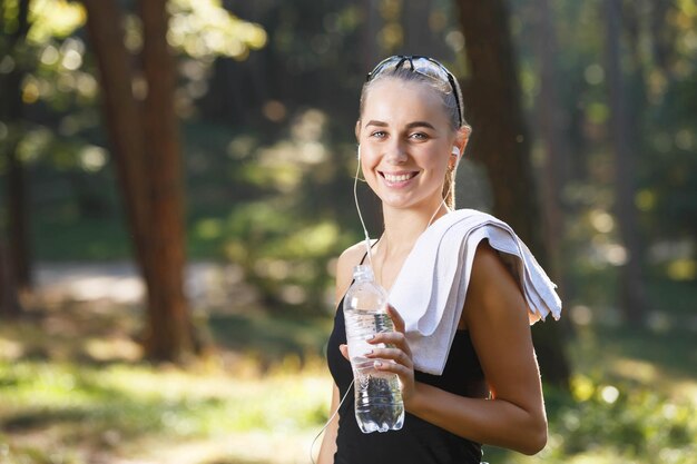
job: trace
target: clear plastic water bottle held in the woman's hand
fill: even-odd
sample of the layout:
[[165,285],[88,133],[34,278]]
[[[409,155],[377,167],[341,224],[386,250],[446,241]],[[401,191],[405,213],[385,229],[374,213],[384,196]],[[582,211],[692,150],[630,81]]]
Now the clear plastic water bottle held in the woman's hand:
[[348,358],[353,368],[356,421],[363,433],[399,431],[404,424],[402,387],[396,374],[375,369],[365,357],[374,347],[371,335],[393,332],[387,314],[387,293],[375,282],[370,266],[356,266],[354,283],[344,298]]

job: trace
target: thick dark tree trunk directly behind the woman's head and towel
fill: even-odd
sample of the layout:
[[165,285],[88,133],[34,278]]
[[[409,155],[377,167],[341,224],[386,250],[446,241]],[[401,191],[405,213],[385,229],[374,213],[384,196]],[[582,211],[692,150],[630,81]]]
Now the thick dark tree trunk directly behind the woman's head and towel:
[[[474,128],[469,151],[487,167],[493,214],[505,220],[548,261],[536,206],[530,144],[520,102],[520,86],[503,0],[460,0],[470,81],[465,108]],[[568,386],[569,365],[554,324],[538,324],[533,337],[546,382]]]

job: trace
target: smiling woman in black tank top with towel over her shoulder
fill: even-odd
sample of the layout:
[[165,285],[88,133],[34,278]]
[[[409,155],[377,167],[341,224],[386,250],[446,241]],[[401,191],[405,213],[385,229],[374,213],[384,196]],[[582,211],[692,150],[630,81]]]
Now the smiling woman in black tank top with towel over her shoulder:
[[[352,268],[362,263],[390,289],[386,310],[396,332],[371,338],[366,357],[376,361],[376,371],[399,376],[408,414],[400,431],[361,432],[347,395],[352,369],[337,310],[327,359],[335,382],[332,411],[338,414],[327,424],[321,464],[480,463],[481,444],[526,454],[546,444],[529,322],[549,310],[540,312],[540,299],[529,298],[540,287],[532,283],[531,289],[521,277],[528,266],[536,275],[543,272],[507,225],[479,211],[454,210],[454,172],[471,132],[461,95],[450,71],[428,57],[391,57],[367,75],[355,136],[360,167],[382,201],[384,230],[338,258],[336,303],[342,307]],[[454,227],[462,219],[465,226]],[[519,251],[501,246],[494,229],[505,230],[503,241]],[[443,253],[441,243],[457,245]],[[440,261],[429,265],[434,256]],[[450,287],[442,285],[450,282],[442,278],[443,268],[454,273]],[[557,317],[553,284],[547,276],[540,280],[547,292],[541,299],[552,300]],[[430,283],[436,284],[436,302],[422,304],[421,296],[432,295]]]

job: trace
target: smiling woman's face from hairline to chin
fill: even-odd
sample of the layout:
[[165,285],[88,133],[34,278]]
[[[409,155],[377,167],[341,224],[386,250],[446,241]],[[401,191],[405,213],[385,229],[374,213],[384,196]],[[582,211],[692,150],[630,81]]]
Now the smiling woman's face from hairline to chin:
[[373,83],[356,137],[365,180],[384,206],[440,204],[455,132],[434,89],[395,78]]

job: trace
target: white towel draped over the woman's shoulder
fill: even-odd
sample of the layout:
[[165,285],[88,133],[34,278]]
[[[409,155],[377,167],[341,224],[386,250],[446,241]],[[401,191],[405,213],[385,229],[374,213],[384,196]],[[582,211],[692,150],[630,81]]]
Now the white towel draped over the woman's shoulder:
[[482,239],[501,253],[520,283],[530,324],[552,314],[561,300],[528,247],[500,219],[459,209],[433,223],[416,240],[390,290],[390,304],[404,318],[418,371],[441,375],[464,305],[472,261]]

